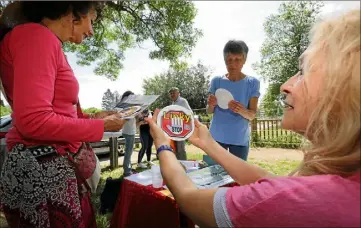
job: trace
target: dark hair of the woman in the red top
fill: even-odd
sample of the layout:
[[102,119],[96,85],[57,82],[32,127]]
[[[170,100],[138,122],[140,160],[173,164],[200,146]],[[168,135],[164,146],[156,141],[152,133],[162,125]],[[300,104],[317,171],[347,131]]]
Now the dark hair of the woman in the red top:
[[43,18],[56,20],[68,13],[73,13],[75,19],[86,15],[90,9],[101,13],[99,1],[22,1],[21,9],[30,22],[38,23]]

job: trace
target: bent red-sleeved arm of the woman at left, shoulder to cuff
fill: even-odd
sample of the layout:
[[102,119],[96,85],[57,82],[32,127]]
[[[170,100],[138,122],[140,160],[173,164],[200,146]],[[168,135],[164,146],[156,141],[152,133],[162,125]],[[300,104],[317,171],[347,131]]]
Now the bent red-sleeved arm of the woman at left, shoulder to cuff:
[[[25,29],[24,29],[25,30]],[[47,141],[99,141],[104,121],[75,119],[54,112],[52,100],[62,50],[46,28],[13,34],[14,122],[24,137]]]

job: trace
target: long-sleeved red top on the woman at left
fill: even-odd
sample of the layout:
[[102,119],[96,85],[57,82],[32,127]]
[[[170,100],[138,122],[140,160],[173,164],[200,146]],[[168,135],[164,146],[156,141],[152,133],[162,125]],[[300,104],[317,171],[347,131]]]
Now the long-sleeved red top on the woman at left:
[[13,110],[6,135],[17,143],[53,145],[76,152],[102,139],[104,121],[77,115],[79,84],[59,39],[48,28],[16,26],[0,43],[1,80]]

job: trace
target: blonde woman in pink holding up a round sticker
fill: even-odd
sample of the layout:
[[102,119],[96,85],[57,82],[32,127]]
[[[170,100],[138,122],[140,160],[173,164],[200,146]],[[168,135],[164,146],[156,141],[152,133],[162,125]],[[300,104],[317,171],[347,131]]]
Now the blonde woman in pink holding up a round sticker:
[[197,122],[190,141],[241,185],[197,189],[169,152],[155,119],[147,119],[166,185],[196,224],[360,226],[360,10],[314,27],[299,73],[281,90],[286,94],[283,128],[311,142],[301,165],[287,177],[275,177],[227,153]]

